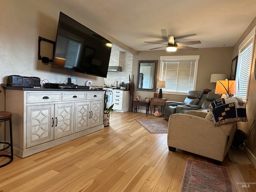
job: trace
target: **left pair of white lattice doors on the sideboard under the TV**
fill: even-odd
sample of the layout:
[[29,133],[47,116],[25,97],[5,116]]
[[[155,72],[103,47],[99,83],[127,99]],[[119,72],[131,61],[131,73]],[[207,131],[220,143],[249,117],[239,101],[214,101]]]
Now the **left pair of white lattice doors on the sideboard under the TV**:
[[74,103],[27,107],[27,148],[74,133]]

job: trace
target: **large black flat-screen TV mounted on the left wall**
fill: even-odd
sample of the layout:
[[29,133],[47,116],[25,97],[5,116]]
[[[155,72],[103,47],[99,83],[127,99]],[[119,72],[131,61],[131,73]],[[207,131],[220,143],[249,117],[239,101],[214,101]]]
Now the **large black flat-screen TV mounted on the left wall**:
[[112,43],[60,12],[52,67],[105,77]]

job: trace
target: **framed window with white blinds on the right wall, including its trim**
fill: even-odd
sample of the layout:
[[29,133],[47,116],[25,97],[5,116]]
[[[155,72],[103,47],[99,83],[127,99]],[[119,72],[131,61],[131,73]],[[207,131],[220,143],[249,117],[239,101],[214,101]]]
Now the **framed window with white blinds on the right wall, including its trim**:
[[254,27],[238,48],[239,54],[238,66],[236,68],[236,94],[234,96],[242,99],[247,99],[255,30],[256,28]]

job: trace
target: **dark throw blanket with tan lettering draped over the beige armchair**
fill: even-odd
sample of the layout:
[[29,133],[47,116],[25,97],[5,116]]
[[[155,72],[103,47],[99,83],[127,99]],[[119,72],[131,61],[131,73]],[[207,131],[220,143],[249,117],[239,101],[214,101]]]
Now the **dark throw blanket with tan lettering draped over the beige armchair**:
[[209,108],[215,126],[237,121],[247,121],[246,102],[241,98],[216,99],[211,102]]

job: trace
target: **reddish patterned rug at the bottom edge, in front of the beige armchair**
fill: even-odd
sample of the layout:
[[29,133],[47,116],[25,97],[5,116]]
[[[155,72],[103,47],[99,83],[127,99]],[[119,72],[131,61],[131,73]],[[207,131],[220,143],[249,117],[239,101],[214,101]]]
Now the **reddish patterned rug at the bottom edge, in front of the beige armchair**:
[[234,192],[226,167],[189,158],[180,191]]

